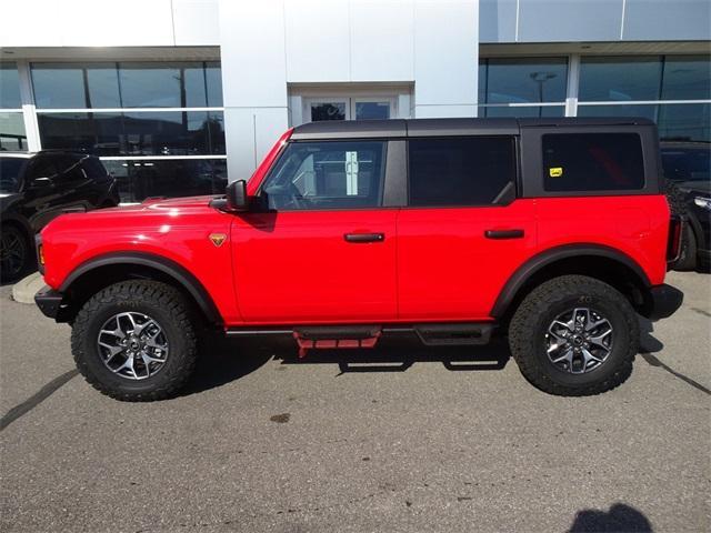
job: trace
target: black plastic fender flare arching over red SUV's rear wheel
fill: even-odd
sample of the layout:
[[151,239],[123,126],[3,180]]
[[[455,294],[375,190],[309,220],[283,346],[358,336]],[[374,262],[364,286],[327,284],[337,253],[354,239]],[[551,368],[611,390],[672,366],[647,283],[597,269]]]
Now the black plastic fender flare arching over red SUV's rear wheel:
[[547,250],[533,258],[529,259],[509,278],[505,285],[499,293],[493,308],[491,309],[491,316],[502,316],[519,290],[529,280],[531,275],[543,269],[544,266],[560,261],[561,259],[574,258],[581,255],[597,255],[601,258],[612,259],[628,266],[638,276],[640,283],[644,286],[651,286],[649,278],[644,273],[644,270],[629,255],[614,250],[613,248],[603,247],[600,244],[568,244],[564,247],[558,247]]

